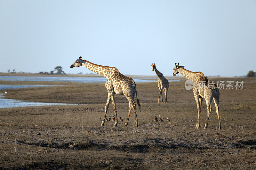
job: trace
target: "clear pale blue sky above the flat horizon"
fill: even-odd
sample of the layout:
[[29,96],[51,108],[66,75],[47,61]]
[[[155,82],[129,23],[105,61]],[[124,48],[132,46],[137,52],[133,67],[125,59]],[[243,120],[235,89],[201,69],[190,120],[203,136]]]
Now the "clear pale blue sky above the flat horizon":
[[79,56],[129,75],[256,71],[256,1],[0,0],[0,72],[70,68]]

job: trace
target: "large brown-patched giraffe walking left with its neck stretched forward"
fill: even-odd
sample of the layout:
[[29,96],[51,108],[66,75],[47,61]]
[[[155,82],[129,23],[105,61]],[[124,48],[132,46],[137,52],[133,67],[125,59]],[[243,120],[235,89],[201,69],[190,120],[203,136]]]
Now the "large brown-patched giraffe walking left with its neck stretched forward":
[[[123,74],[121,74],[116,69],[116,67],[108,67],[108,66],[102,66],[102,65],[94,64],[94,63],[91,63],[89,61],[82,60],[81,58],[82,57],[80,56],[79,59],[77,59],[75,61],[75,63],[70,66],[70,68],[84,66],[87,69],[89,69],[89,70],[91,70],[91,71],[93,71],[97,74],[100,74],[101,76],[103,76],[107,79],[107,81],[105,83],[105,87],[108,90],[108,100],[107,100],[107,103],[106,103],[106,106],[105,106],[105,115],[104,115],[104,117],[106,117],[109,102],[111,100],[112,104],[113,104],[115,116],[116,116],[114,126],[117,126],[118,122],[117,122],[116,102],[115,102],[114,94],[118,94],[118,95],[124,94],[124,96],[129,101],[128,117],[127,117],[127,120],[126,120],[124,125],[127,126],[131,110],[133,110],[134,116],[135,116],[135,127],[138,127],[138,119],[137,119],[137,114],[136,114],[136,104],[134,102],[135,94],[136,94],[136,101],[137,101],[137,104],[139,106],[139,109],[140,109],[140,102],[137,99],[137,89],[136,89],[136,84],[133,81],[133,79],[130,78],[130,77],[126,77]],[[105,119],[103,119],[103,121],[101,123],[101,126],[104,126],[104,123],[105,123]]]

